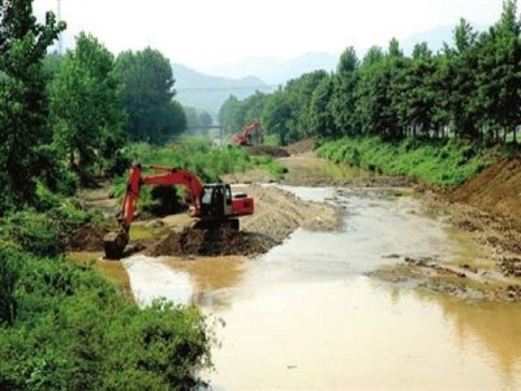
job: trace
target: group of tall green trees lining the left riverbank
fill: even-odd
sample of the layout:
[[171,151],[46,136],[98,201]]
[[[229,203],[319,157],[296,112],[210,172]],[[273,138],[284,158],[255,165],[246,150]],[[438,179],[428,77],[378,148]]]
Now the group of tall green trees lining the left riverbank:
[[66,29],[32,1],[0,5],[0,216],[35,204],[36,189],[72,194],[94,176],[121,173],[129,141],[161,144],[186,129],[171,64],[158,50],[114,56],[81,33],[48,54]]

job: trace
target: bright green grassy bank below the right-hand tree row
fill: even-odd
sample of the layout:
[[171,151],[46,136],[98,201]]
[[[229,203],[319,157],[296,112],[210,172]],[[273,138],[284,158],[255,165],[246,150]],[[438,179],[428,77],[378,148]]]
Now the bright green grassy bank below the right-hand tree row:
[[455,140],[405,139],[387,143],[378,137],[326,141],[317,154],[389,175],[403,175],[430,185],[452,188],[492,163],[495,150]]

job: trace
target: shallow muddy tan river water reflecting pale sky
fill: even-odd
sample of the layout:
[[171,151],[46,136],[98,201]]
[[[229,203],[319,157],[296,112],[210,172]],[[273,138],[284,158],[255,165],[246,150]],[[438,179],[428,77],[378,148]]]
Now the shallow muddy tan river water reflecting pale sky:
[[[400,189],[289,187],[343,210],[257,259],[125,259],[139,303],[195,303],[220,342],[213,390],[521,389],[521,306],[463,302],[367,276],[398,257],[468,256]],[[219,321],[218,321],[219,320]]]

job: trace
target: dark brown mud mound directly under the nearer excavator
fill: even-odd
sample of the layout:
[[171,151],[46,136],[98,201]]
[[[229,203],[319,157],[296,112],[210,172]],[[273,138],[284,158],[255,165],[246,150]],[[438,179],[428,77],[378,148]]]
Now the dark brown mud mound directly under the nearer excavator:
[[148,250],[152,257],[186,255],[244,255],[251,257],[267,252],[273,239],[264,235],[237,232],[230,228],[199,230],[185,227],[158,241]]

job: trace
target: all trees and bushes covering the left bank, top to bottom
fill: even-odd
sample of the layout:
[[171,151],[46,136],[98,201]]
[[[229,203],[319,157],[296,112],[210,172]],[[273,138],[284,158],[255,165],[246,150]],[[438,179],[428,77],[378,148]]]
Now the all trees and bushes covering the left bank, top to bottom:
[[191,388],[211,366],[202,314],[141,309],[66,257],[77,228],[105,224],[77,188],[123,174],[129,141],[186,128],[169,62],[150,48],[115,57],[84,33],[47,54],[66,24],[38,22],[32,0],[4,1],[0,19],[0,389]]

